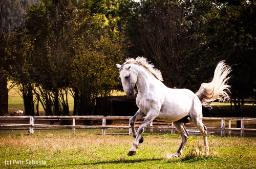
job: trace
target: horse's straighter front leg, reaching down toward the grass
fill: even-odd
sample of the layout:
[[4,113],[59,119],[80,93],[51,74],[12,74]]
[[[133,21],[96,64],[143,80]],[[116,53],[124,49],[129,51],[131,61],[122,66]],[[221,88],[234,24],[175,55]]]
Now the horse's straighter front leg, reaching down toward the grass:
[[130,149],[129,153],[127,155],[135,155],[136,154],[136,148],[139,146],[139,142],[141,140],[141,134],[144,132],[146,127],[156,118],[153,114],[147,114],[144,121],[141,123],[140,127],[138,128],[137,135],[135,138],[135,141],[133,143],[133,147]]

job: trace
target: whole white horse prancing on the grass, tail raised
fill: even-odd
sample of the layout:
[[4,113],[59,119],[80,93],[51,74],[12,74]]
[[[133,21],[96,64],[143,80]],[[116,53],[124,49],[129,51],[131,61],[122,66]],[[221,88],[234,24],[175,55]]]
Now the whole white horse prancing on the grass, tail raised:
[[[194,94],[187,89],[170,89],[163,83],[161,72],[149,64],[145,58],[136,60],[127,59],[123,65],[117,64],[123,90],[127,96],[134,95],[134,87],[137,86],[138,95],[136,104],[139,110],[130,119],[132,134],[135,141],[128,155],[135,155],[139,143],[143,142],[141,134],[154,120],[173,122],[177,131],[181,134],[182,142],[173,157],[180,157],[182,149],[188,138],[184,123],[188,117],[197,126],[204,138],[206,155],[209,154],[206,127],[202,123],[202,105],[209,107],[210,103],[217,99],[229,100],[230,86],[226,85],[228,73],[231,71],[224,62],[220,62],[215,70],[214,78],[209,83],[202,83],[199,91]],[[145,117],[137,132],[134,123]]]

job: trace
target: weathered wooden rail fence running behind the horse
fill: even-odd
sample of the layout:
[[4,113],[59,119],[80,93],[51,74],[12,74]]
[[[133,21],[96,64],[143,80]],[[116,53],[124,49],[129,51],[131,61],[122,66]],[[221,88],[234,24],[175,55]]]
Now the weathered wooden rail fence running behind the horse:
[[[31,134],[34,133],[34,129],[72,129],[73,134],[75,129],[102,129],[102,134],[105,134],[106,129],[127,129],[129,135],[131,135],[131,126],[129,122],[124,125],[114,126],[106,125],[106,120],[129,120],[129,116],[0,116],[0,120],[14,120],[14,119],[29,119],[29,124],[1,124],[0,129],[15,129],[18,127],[29,128]],[[72,125],[46,125],[35,124],[35,120],[72,120]],[[102,121],[102,125],[76,125],[76,120],[97,120]],[[209,130],[220,130],[221,136],[225,136],[225,131],[228,135],[231,135],[231,130],[240,130],[241,137],[244,137],[245,131],[255,132],[255,128],[245,128],[245,122],[255,122],[256,118],[203,118],[204,121],[221,121],[220,127],[207,127]],[[231,128],[231,121],[241,121],[241,128]],[[228,127],[225,127],[225,122],[228,122]],[[160,125],[159,125],[160,124]],[[255,126],[255,125],[253,125]],[[136,126],[138,128],[138,125]],[[196,127],[187,127],[188,132],[199,132]],[[153,122],[147,127],[150,129],[151,134],[153,130],[170,130],[171,133],[175,133],[175,126],[173,123]],[[127,133],[128,134],[128,133]]]

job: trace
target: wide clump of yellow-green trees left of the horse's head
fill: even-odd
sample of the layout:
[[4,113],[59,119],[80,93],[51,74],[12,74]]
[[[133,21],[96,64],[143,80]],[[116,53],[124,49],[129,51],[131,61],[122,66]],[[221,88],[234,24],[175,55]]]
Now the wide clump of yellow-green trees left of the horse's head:
[[[96,9],[98,5],[105,7]],[[115,5],[117,1],[42,0],[29,7],[24,24],[13,34],[20,50],[9,49],[26,71],[15,69],[13,80],[23,80],[21,87],[30,83],[46,115],[69,115],[70,89],[79,103],[74,108],[79,106],[80,115],[91,115],[95,98],[116,88],[114,68],[123,50]]]

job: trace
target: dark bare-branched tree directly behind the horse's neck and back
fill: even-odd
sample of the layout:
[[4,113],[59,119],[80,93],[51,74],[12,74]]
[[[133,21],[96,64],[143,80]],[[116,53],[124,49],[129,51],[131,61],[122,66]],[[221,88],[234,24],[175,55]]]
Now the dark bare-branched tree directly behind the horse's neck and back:
[[201,43],[204,16],[211,1],[142,1],[139,29],[133,43],[162,71],[172,88],[199,88],[198,58],[193,53]]

